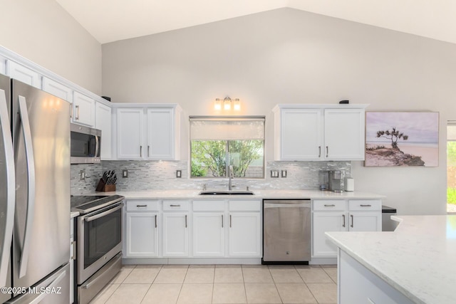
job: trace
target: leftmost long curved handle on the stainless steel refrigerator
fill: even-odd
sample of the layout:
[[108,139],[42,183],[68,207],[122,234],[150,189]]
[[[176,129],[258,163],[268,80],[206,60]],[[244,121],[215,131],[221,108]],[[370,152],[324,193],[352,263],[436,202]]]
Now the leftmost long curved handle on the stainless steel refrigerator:
[[0,257],[0,286],[6,285],[6,276],[8,274],[8,264],[10,258],[11,241],[13,239],[14,227],[14,204],[16,201],[16,177],[14,170],[14,152],[13,141],[11,137],[8,108],[6,108],[6,94],[4,90],[0,90],[0,125],[1,136],[3,137],[3,147],[5,153],[6,167],[6,216],[5,230],[3,231],[3,244],[1,244]]

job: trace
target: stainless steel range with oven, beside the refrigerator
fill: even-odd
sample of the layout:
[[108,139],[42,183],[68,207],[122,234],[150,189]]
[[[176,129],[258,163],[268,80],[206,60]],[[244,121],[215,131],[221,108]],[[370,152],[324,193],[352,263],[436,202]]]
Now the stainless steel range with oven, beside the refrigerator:
[[72,196],[76,217],[75,303],[89,303],[122,267],[124,196]]

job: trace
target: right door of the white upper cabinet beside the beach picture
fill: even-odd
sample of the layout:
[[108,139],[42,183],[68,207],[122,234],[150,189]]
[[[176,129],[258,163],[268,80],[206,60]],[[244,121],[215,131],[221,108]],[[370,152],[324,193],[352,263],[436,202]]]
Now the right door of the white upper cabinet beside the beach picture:
[[326,109],[324,155],[331,160],[363,160],[363,109]]

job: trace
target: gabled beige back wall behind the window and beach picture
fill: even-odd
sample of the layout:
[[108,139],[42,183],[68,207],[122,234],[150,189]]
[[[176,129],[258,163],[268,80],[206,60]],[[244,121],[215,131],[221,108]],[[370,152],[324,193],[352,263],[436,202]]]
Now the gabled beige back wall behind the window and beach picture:
[[[440,167],[363,167],[356,190],[387,196],[399,214],[443,214],[445,123],[456,120],[456,45],[373,26],[278,9],[107,43],[103,95],[118,103],[179,103],[212,115],[214,98],[240,98],[243,115],[277,103],[368,103],[369,111],[440,112]],[[187,142],[183,142],[188,145]]]

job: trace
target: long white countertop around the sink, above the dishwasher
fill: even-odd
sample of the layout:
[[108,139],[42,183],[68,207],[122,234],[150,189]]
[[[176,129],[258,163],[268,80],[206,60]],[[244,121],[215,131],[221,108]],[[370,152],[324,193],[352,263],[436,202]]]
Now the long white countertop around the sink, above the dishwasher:
[[254,195],[198,195],[200,190],[155,190],[141,192],[94,192],[93,195],[123,195],[127,199],[384,199],[368,192],[334,193],[319,190],[253,190]]

